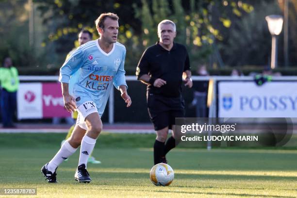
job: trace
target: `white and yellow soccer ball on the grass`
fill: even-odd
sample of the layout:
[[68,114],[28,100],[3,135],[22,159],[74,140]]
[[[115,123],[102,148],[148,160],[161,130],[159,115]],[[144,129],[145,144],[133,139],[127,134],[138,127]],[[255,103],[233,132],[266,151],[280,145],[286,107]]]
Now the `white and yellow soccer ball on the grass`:
[[168,186],[174,179],[174,172],[170,165],[160,163],[151,168],[149,176],[156,186]]

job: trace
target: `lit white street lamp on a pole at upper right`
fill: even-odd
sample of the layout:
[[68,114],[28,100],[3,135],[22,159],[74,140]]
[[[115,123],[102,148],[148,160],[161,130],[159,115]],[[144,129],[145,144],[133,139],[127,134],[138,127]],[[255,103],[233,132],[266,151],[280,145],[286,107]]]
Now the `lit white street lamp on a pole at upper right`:
[[277,35],[281,33],[283,18],[280,15],[269,15],[265,17],[268,23],[269,32],[272,35],[271,46],[271,69],[274,69],[278,65],[277,61]]

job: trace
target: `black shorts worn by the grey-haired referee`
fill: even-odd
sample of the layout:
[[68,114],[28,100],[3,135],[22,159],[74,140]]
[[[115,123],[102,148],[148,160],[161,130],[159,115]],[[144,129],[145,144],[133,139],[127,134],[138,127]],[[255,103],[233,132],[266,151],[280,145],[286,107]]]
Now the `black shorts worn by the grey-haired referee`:
[[147,94],[148,115],[155,131],[168,127],[172,129],[176,117],[184,117],[184,100],[182,97],[168,98]]

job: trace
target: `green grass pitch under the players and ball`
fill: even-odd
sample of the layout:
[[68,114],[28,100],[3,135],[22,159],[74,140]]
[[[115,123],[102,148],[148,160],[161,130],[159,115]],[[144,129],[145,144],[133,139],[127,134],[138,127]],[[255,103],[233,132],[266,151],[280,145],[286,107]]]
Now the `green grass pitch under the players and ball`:
[[[59,183],[40,173],[65,134],[0,134],[0,187],[37,188],[44,198],[297,197],[297,150],[176,148],[167,155],[175,171],[168,187],[149,180],[154,134],[102,133],[88,164],[91,183],[74,180],[79,152],[57,169]],[[0,196],[4,197],[4,196]],[[26,197],[31,196],[6,196]]]

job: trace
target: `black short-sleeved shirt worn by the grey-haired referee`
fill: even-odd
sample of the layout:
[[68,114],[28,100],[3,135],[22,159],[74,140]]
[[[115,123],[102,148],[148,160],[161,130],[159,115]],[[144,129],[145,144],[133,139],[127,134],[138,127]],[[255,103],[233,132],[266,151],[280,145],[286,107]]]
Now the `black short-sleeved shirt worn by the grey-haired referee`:
[[136,70],[137,79],[144,74],[160,78],[166,84],[160,88],[148,85],[149,93],[165,97],[181,96],[182,73],[190,70],[189,55],[185,46],[173,43],[170,51],[164,49],[159,42],[150,46],[143,53]]

